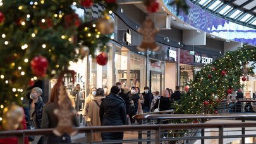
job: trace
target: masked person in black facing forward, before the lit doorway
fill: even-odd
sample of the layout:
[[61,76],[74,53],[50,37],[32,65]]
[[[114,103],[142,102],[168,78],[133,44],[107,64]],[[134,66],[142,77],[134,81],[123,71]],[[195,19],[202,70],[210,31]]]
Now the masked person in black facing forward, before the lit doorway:
[[144,109],[143,113],[149,113],[150,112],[150,106],[151,102],[153,100],[153,94],[149,91],[149,87],[144,87],[144,92],[142,93],[142,96],[144,98]]

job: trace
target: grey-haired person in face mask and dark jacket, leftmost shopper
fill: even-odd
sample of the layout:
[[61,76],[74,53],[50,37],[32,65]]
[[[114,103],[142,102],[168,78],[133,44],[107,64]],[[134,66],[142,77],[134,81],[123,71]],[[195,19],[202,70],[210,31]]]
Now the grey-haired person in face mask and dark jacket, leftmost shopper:
[[[29,99],[29,114],[30,114],[30,125],[34,128],[41,128],[42,123],[42,112],[44,108],[44,102],[42,101],[42,89],[40,87],[34,87],[30,93]],[[35,136],[34,141],[30,143],[38,143],[41,136]]]

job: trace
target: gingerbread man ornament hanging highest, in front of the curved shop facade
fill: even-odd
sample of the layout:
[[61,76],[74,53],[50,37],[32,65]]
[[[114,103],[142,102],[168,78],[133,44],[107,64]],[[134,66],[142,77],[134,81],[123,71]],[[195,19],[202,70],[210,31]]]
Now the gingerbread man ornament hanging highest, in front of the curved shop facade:
[[140,51],[145,51],[150,48],[152,51],[159,50],[159,46],[155,44],[155,34],[159,31],[159,28],[155,28],[155,25],[151,19],[143,21],[143,28],[138,28],[138,33],[142,35],[142,44],[137,47]]

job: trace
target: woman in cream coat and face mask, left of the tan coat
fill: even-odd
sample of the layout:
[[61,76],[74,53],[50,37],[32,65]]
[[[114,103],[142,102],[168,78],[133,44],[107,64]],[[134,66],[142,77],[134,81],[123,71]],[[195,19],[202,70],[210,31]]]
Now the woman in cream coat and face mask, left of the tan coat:
[[83,118],[85,118],[85,121],[87,121],[87,123],[86,123],[87,125],[88,125],[88,121],[90,121],[90,118],[88,118],[88,116],[87,116],[89,104],[94,99],[94,97],[96,96],[96,93],[97,93],[97,88],[92,87],[92,89],[90,89],[89,96],[87,96],[85,98],[85,106],[83,108],[82,114],[83,114]]

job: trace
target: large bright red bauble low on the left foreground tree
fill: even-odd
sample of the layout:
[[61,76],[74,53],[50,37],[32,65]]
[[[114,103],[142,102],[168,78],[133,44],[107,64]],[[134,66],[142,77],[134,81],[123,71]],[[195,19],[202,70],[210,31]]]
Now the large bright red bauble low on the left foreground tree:
[[34,57],[33,60],[31,60],[30,65],[33,74],[37,77],[44,77],[46,75],[48,67],[48,60],[46,57],[43,57],[42,55]]

